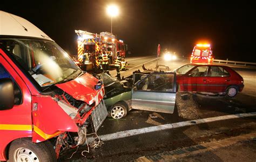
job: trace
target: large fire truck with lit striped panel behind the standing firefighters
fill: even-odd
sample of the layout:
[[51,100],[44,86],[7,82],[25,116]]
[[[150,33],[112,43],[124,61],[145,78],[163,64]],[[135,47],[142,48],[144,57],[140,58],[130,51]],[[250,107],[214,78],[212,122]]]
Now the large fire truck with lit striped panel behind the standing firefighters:
[[[78,35],[77,38],[77,56],[79,62],[83,62],[83,55],[87,52],[97,53],[103,51],[103,49],[109,53],[110,66],[114,63],[114,58],[116,57],[117,51],[120,52],[121,56],[125,57],[127,51],[127,44],[124,44],[123,40],[117,40],[110,32],[100,32],[91,33],[83,30],[75,30]],[[87,66],[86,70],[90,70],[92,67],[92,62],[89,57],[86,58],[84,64]]]

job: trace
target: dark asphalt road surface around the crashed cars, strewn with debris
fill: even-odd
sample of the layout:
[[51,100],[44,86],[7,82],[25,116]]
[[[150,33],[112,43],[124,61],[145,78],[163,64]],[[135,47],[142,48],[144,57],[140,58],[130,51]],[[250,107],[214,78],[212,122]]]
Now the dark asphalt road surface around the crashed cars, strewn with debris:
[[[157,60],[153,56],[129,58],[129,70],[122,71],[121,75],[127,77],[134,70],[142,70],[143,63],[146,68],[154,69]],[[174,62],[164,62],[161,58],[158,60],[158,65],[167,65],[171,70],[186,63],[186,59]],[[77,152],[76,149],[65,151],[61,154],[60,161],[134,160],[142,156],[256,132],[256,114],[253,113],[256,112],[256,71],[238,67],[233,69],[244,77],[245,84],[244,90],[234,98],[179,92],[173,114],[131,110],[126,117],[119,120],[107,117],[97,132],[100,138],[109,138],[105,138],[107,140],[103,141],[104,144],[95,149],[90,148],[89,153],[83,152],[87,150],[87,146],[80,146]],[[112,76],[116,75],[114,70],[110,73]],[[184,93],[187,94],[186,99],[181,98]],[[250,116],[241,115],[245,113]],[[185,125],[186,121],[189,121],[187,123],[190,125]],[[167,127],[170,125],[172,127]],[[159,126],[166,128],[158,130]],[[155,131],[146,132],[149,128]],[[119,135],[115,135],[117,133],[126,134],[126,137],[118,137]],[[71,156],[72,158],[68,159]]]

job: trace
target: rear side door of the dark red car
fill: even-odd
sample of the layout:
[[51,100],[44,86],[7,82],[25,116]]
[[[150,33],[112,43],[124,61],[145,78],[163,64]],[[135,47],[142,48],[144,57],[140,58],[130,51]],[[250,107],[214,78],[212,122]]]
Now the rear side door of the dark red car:
[[222,66],[210,66],[207,76],[208,92],[225,92],[230,80],[230,73]]

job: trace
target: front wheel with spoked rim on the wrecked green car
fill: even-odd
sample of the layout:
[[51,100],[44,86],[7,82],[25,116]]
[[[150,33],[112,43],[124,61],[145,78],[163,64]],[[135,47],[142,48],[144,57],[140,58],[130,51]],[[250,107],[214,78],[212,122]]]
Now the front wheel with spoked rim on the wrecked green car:
[[110,116],[113,119],[120,119],[127,114],[127,106],[123,103],[114,104],[110,110]]

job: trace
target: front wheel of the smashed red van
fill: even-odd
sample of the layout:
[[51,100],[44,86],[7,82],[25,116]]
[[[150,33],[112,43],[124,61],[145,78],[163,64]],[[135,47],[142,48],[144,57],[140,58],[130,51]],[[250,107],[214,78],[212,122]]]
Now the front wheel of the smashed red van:
[[8,161],[57,161],[56,153],[50,141],[33,143],[31,138],[13,141],[9,149]]

